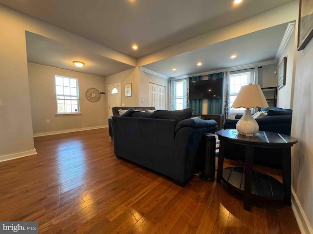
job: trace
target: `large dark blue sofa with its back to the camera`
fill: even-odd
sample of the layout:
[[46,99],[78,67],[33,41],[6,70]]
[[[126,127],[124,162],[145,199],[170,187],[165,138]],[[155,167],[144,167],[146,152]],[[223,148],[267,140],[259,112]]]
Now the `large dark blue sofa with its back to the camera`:
[[[181,115],[182,113],[182,115]],[[113,116],[114,153],[174,179],[184,186],[200,171],[204,133],[215,133],[215,120],[191,118],[192,109],[143,113],[129,110]]]

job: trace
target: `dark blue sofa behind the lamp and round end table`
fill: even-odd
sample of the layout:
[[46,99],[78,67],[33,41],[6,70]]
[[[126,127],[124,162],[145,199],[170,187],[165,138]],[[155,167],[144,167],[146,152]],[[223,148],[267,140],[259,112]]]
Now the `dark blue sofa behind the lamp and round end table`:
[[[289,135],[291,133],[291,109],[282,108],[264,108],[266,117],[256,118],[260,131],[274,132]],[[226,119],[224,129],[236,129],[236,124],[242,115],[236,115],[235,119]],[[225,148],[225,157],[239,161],[245,161],[245,147],[242,145],[227,143]],[[254,150],[254,164],[281,168],[282,155],[281,149],[257,148]]]

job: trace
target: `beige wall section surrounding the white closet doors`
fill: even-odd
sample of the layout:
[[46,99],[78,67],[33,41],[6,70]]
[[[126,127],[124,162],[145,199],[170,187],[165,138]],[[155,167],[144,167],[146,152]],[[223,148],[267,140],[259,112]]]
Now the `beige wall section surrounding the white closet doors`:
[[[146,73],[138,69],[139,78],[139,106],[150,106],[149,83],[165,86],[165,110],[169,110],[169,81],[164,78]],[[144,103],[142,102],[144,100]]]

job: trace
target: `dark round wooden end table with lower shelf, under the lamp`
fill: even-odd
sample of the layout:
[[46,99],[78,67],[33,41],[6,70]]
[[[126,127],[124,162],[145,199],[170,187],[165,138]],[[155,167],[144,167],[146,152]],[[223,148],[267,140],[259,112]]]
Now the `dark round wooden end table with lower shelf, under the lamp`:
[[[251,209],[251,195],[268,199],[284,199],[291,205],[291,146],[297,139],[288,135],[259,131],[259,136],[248,137],[238,134],[235,129],[223,129],[217,132],[220,139],[220,153],[217,170],[217,182],[225,184],[244,194],[244,209]],[[246,148],[245,168],[223,168],[224,151],[227,142],[244,145]],[[254,147],[279,148],[282,151],[283,184],[271,176],[253,170]]]

